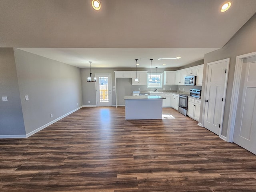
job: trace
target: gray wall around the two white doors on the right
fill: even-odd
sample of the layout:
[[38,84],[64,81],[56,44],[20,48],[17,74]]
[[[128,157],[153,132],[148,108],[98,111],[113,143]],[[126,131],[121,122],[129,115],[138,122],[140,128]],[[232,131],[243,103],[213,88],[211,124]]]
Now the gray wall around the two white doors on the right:
[[[226,92],[226,103],[224,109],[224,120],[222,125],[222,135],[227,136],[228,118],[230,111],[230,100],[232,96],[232,86],[234,80],[234,70],[236,65],[236,56],[256,51],[256,14],[254,14],[246,24],[226,43],[226,45],[214,52],[205,54],[204,56],[204,74],[206,74],[206,66],[209,62],[230,58],[230,66],[228,73],[228,86]],[[205,82],[205,75],[203,82]],[[204,92],[205,86],[202,86]],[[202,100],[204,96],[202,94]],[[202,122],[201,105],[200,122]]]

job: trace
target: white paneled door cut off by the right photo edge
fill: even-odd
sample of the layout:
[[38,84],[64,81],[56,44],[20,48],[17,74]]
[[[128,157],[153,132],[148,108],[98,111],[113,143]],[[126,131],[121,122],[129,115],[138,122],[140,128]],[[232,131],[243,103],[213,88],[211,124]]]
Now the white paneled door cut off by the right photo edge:
[[256,56],[244,59],[242,64],[233,139],[256,154]]

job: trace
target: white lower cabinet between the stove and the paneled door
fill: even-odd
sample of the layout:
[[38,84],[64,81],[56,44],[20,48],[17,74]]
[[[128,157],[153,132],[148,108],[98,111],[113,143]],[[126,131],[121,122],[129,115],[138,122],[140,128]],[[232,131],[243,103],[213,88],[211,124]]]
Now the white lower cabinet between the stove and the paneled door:
[[188,116],[199,122],[201,100],[188,98]]

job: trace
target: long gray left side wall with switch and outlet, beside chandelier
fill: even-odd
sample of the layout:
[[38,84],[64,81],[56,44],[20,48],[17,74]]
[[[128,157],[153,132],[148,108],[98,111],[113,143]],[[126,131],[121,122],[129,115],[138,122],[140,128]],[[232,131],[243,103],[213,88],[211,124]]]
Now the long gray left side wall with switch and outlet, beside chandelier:
[[18,49],[14,56],[26,134],[82,106],[80,68]]

